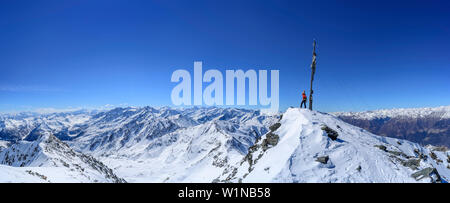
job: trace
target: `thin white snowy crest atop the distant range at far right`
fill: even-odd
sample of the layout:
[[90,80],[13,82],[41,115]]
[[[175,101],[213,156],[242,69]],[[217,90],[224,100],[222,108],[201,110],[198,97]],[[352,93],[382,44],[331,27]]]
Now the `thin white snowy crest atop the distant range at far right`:
[[426,107],[426,108],[398,108],[398,109],[382,109],[364,112],[335,112],[336,116],[351,116],[357,119],[377,119],[377,118],[422,118],[422,117],[438,117],[441,119],[450,118],[450,106]]

